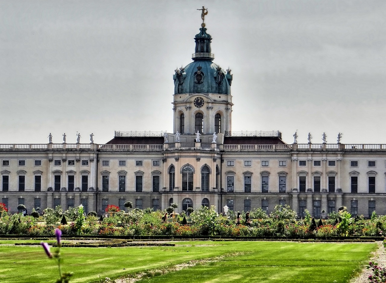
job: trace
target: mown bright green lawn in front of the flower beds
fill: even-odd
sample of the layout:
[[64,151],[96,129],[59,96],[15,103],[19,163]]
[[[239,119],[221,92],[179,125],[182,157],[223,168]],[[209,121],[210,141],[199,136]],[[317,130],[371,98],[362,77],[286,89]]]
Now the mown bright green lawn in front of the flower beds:
[[[12,241],[17,242],[17,241]],[[19,241],[20,242],[20,241]],[[0,242],[4,244],[4,241]],[[375,243],[177,241],[175,247],[64,247],[70,282],[98,282],[225,254],[219,261],[139,282],[348,282]],[[0,246],[0,282],[54,282],[58,269],[40,246]]]

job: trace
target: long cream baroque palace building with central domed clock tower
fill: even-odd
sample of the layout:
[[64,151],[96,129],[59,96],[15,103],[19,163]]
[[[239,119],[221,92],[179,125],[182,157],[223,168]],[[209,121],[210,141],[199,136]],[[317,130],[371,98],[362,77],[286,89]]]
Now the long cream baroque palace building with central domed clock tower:
[[[110,204],[223,212],[289,205],[318,217],[345,205],[386,214],[386,144],[286,144],[279,131],[232,132],[231,70],[213,63],[205,24],[173,75],[173,133],[120,132],[106,144],[0,144],[0,192],[11,212]],[[92,137],[91,137],[92,141]],[[325,141],[325,140],[324,140]],[[323,211],[325,211],[323,213]]]

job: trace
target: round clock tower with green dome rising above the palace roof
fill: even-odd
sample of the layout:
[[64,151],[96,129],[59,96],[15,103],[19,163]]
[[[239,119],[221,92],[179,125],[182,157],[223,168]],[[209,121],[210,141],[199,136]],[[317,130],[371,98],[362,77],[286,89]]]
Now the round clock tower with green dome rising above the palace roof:
[[175,70],[173,132],[213,134],[231,130],[231,70],[213,63],[211,41],[205,24],[201,24],[195,36],[193,62]]

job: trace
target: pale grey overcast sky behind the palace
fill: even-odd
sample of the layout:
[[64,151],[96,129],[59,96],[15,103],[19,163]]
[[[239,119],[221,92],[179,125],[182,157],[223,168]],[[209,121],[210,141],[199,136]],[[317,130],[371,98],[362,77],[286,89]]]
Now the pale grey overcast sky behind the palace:
[[0,0],[0,143],[173,131],[202,5],[232,69],[232,130],[386,143],[386,1]]

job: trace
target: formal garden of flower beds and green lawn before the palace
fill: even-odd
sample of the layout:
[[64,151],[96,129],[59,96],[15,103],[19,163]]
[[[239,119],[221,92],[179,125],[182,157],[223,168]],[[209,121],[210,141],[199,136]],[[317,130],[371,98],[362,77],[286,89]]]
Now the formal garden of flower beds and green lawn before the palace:
[[[386,216],[351,217],[345,207],[327,219],[258,208],[249,223],[241,212],[237,225],[233,211],[178,214],[176,206],[154,212],[127,202],[125,211],[110,205],[102,216],[58,206],[23,216],[0,204],[0,282],[347,283],[386,229]],[[385,282],[381,266],[368,267],[368,282]]]

